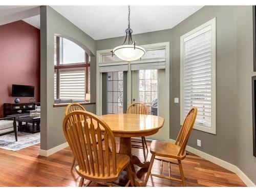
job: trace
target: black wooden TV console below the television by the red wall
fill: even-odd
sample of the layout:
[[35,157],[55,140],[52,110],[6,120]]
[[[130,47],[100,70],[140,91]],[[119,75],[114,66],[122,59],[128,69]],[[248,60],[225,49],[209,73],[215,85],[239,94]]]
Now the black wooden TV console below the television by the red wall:
[[[29,105],[32,105],[32,107],[29,107]],[[40,106],[40,103],[4,103],[4,117],[7,115],[20,114],[18,111],[25,113],[26,111],[35,110],[35,105]],[[25,108],[23,108],[23,106],[25,106]],[[19,109],[16,109],[16,107],[19,107]]]

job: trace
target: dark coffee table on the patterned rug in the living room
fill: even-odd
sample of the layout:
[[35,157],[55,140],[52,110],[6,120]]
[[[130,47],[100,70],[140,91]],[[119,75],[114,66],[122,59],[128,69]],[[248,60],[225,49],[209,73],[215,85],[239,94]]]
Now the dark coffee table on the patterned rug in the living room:
[[[26,122],[26,124],[22,124],[22,122]],[[28,123],[32,123],[32,125]],[[40,132],[40,116],[20,116],[18,118],[18,131],[28,133]]]

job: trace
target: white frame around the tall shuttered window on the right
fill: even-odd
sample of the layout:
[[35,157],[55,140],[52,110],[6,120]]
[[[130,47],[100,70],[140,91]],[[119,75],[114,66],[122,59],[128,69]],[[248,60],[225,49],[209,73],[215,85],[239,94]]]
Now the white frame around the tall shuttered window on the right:
[[183,46],[184,39],[197,36],[197,32],[211,26],[211,127],[195,124],[193,129],[216,135],[216,17],[180,37],[180,123],[184,121],[183,113]]

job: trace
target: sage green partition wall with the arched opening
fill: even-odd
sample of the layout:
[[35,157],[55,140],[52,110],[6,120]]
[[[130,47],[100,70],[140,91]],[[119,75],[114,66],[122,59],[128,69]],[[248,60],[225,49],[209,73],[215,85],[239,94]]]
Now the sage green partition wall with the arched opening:
[[[41,98],[41,150],[49,150],[66,142],[62,131],[62,120],[65,107],[53,108],[54,104],[54,35],[59,34],[76,39],[87,47],[91,59],[91,100],[95,102],[95,40],[81,31],[68,19],[49,6],[40,7],[40,38],[41,38],[41,68],[40,68],[40,98]],[[96,112],[96,106],[86,105],[90,112]]]

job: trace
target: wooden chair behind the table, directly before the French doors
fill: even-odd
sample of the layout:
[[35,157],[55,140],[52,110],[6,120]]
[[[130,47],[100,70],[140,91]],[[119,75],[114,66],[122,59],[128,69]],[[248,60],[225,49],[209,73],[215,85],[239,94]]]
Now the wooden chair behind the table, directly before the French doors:
[[[126,113],[128,114],[142,114],[142,115],[148,115],[149,112],[147,110],[147,107],[143,103],[132,103],[126,110]],[[142,145],[139,145],[138,143],[142,143]],[[148,153],[147,143],[145,137],[141,137],[141,141],[132,139],[132,147],[133,148],[142,148],[143,149],[143,156],[144,160],[146,161],[146,151]]]

